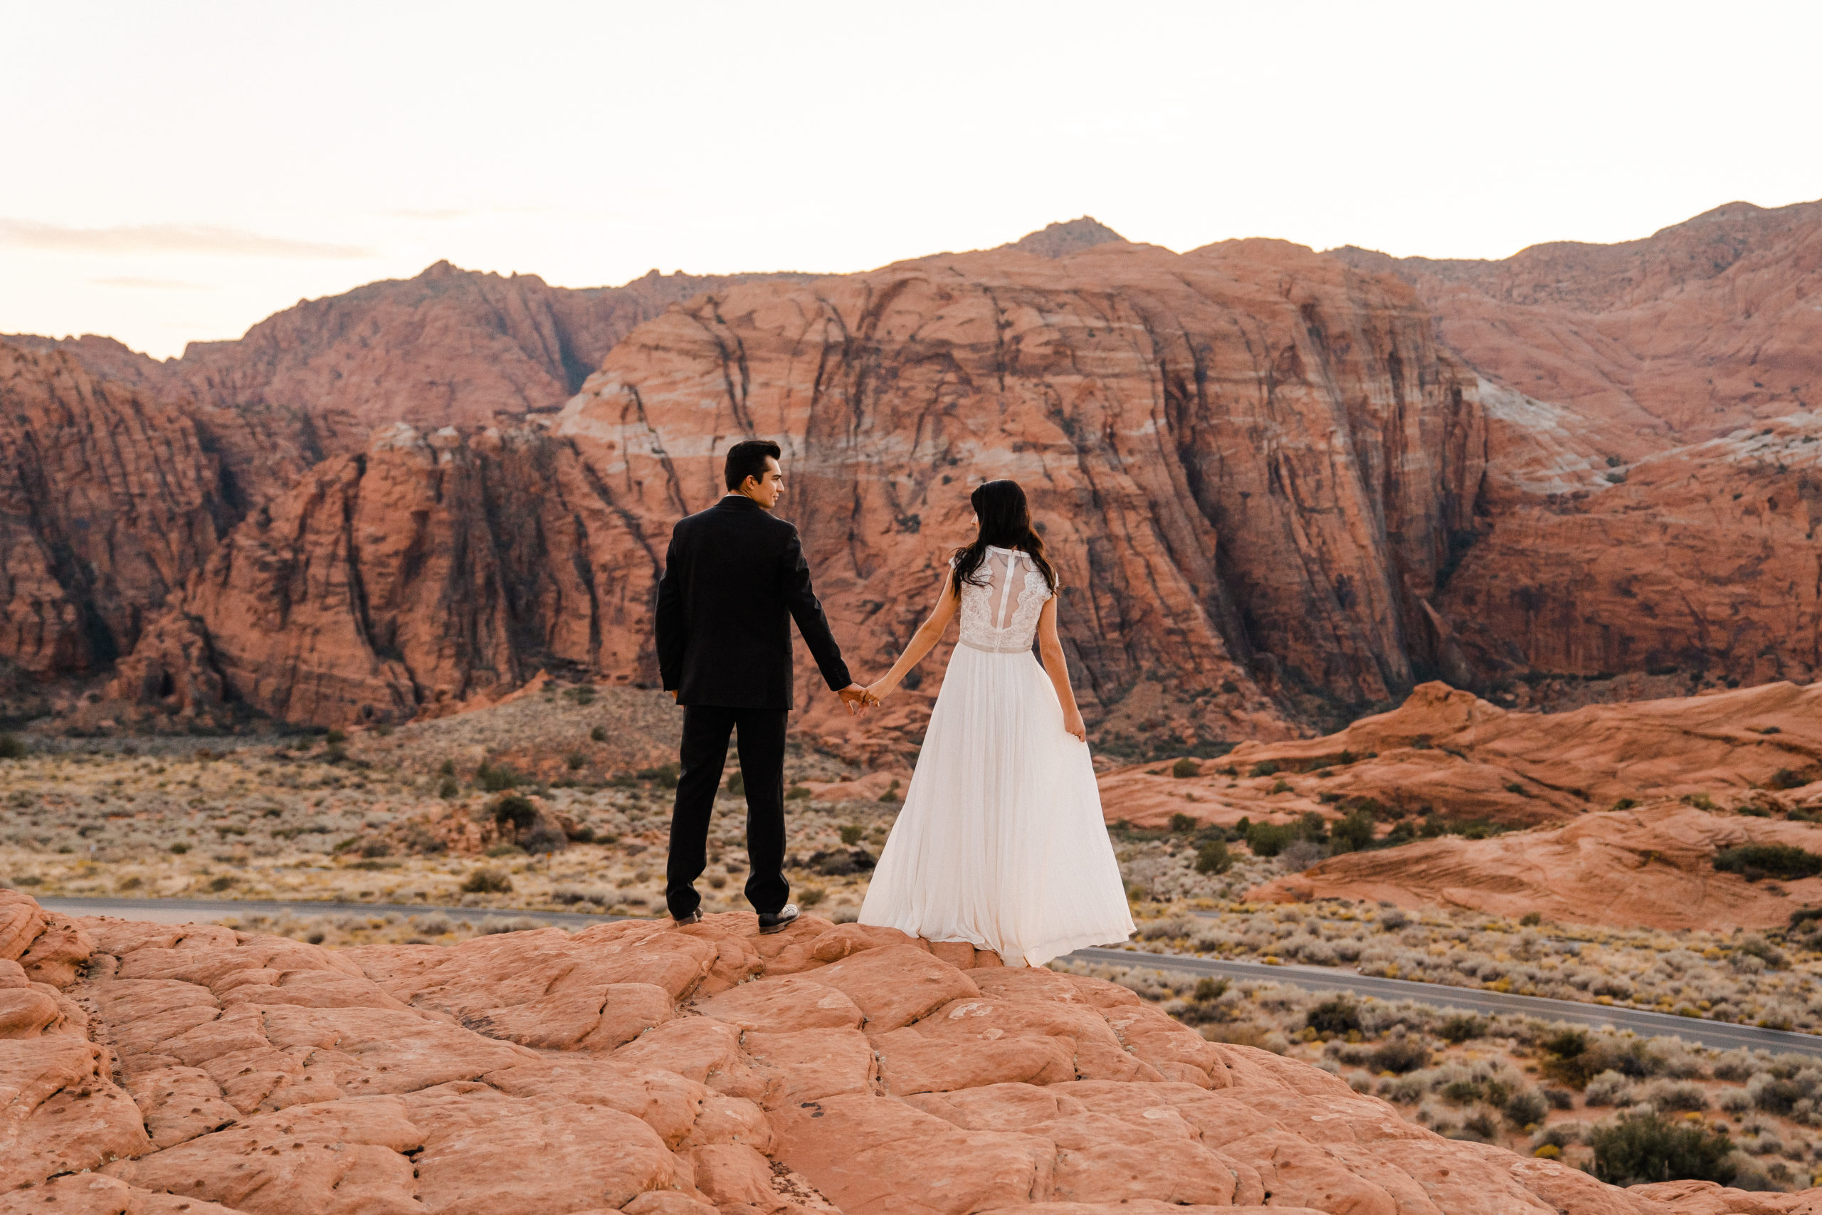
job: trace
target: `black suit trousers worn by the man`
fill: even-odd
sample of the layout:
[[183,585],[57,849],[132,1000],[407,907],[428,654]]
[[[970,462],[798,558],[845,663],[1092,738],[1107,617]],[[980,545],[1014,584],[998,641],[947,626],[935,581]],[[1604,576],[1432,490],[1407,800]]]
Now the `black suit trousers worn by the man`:
[[709,863],[709,820],[722,787],[727,738],[738,730],[740,778],[747,791],[747,902],[776,914],[791,896],[785,882],[785,718],[783,709],[687,705],[678,749],[678,800],[670,811],[665,904],[683,918],[701,905],[696,878]]

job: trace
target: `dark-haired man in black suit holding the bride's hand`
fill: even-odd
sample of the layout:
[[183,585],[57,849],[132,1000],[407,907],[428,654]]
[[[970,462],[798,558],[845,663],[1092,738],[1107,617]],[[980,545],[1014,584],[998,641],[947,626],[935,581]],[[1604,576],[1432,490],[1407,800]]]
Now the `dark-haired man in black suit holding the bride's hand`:
[[811,590],[796,528],[771,516],[785,488],[780,454],[769,439],[729,450],[727,497],[678,521],[658,583],[658,669],[683,705],[683,771],[665,865],[665,904],[678,924],[701,920],[696,878],[707,865],[709,816],[736,730],[752,862],[747,902],[760,913],[762,933],[778,933],[798,916],[785,902],[783,874],[791,619],[847,710],[867,703]]

